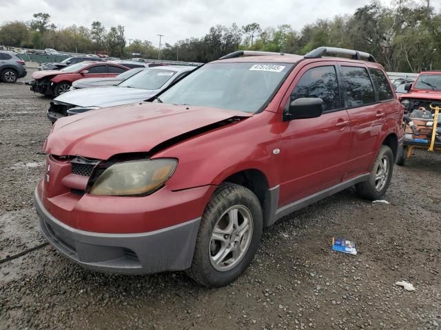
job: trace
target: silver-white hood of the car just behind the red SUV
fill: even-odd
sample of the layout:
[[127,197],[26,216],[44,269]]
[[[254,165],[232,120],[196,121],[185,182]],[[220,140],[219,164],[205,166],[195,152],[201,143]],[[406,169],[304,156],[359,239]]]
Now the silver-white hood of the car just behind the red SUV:
[[114,107],[146,100],[156,95],[157,91],[129,87],[96,87],[76,89],[61,94],[54,102],[74,104],[77,107]]

